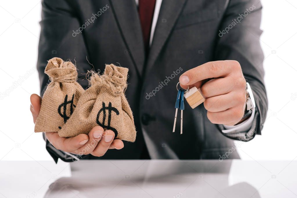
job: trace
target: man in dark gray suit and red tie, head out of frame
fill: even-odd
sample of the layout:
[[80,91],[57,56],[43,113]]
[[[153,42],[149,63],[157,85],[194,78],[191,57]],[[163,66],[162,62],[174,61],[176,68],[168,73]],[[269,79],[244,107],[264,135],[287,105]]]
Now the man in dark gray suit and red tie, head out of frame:
[[[72,138],[46,133],[50,155],[56,162],[238,158],[233,140],[261,134],[267,112],[261,9],[256,0],[43,0],[41,95],[54,56],[76,62],[84,88],[89,62],[95,71],[118,62],[129,68],[126,96],[138,132],[134,143],[100,126]],[[206,98],[195,109],[185,104],[182,135],[172,132],[177,82]],[[40,103],[31,95],[34,122]]]

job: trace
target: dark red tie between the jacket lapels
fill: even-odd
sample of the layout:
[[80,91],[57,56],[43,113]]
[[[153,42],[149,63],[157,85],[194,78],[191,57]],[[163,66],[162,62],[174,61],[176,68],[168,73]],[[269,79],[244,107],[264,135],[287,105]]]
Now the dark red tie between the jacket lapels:
[[146,53],[149,51],[151,24],[153,22],[156,0],[139,0],[139,16]]

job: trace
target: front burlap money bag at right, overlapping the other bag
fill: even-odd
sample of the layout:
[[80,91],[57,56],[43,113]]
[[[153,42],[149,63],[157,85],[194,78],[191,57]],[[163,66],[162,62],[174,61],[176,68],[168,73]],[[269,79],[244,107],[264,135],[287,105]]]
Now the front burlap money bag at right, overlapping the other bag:
[[125,97],[128,68],[106,65],[103,75],[93,72],[91,86],[80,97],[78,104],[59,130],[61,137],[88,134],[95,126],[112,130],[115,138],[134,142],[136,130],[133,114]]

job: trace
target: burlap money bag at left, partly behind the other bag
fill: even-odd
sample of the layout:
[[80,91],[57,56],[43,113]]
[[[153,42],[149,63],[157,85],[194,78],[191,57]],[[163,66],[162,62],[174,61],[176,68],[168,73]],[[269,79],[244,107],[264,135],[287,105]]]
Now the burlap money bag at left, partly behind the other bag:
[[85,91],[76,82],[77,71],[71,62],[52,58],[45,67],[50,77],[35,122],[35,132],[58,132],[73,113],[78,99]]

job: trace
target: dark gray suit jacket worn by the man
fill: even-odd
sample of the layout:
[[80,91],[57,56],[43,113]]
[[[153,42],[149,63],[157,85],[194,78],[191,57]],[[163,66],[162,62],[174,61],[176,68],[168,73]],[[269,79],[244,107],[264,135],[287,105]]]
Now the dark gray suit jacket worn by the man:
[[[118,62],[129,68],[126,96],[138,133],[135,143],[125,142],[123,149],[110,150],[101,159],[140,159],[145,145],[152,159],[219,159],[234,148],[232,139],[248,141],[260,134],[266,117],[261,9],[257,0],[163,0],[146,57],[135,0],[43,0],[37,63],[41,93],[48,84],[47,60],[54,56],[76,62],[84,88],[86,72],[93,69],[86,57],[101,72],[105,63]],[[234,23],[240,16],[241,22]],[[227,27],[228,33],[219,35]],[[180,74],[214,60],[241,64],[256,102],[252,133],[223,135],[222,126],[207,119],[203,105],[192,109],[187,104],[183,134],[172,133]],[[72,159],[48,141],[46,148],[56,161]],[[229,158],[238,158],[236,151]]]

